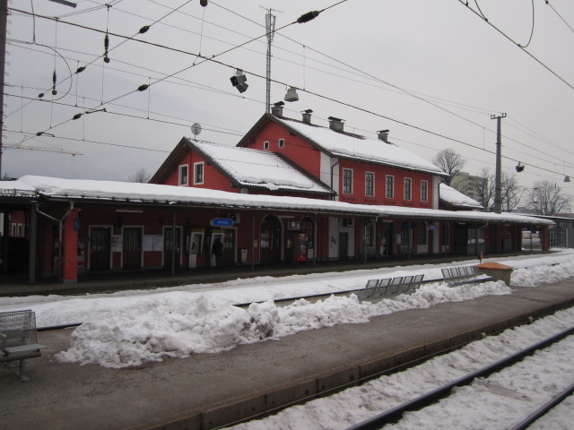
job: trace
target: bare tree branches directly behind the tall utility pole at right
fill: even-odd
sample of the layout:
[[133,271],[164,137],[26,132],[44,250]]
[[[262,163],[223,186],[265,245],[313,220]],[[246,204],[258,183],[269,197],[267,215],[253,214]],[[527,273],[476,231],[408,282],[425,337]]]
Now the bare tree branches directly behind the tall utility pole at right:
[[[494,194],[496,192],[495,174],[490,168],[483,168],[479,176],[479,202],[483,205],[484,211],[494,211]],[[517,176],[514,173],[502,173],[500,177],[500,197],[504,211],[511,212],[517,208],[525,188],[518,184]]]

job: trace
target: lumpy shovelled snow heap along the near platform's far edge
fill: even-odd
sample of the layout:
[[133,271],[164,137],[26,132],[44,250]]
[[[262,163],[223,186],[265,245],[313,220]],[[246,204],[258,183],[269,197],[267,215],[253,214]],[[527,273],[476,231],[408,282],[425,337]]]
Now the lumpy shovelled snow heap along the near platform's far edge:
[[382,314],[510,292],[500,281],[457,288],[431,284],[412,296],[388,298],[376,304],[361,303],[352,294],[316,303],[300,299],[286,306],[269,300],[249,305],[248,309],[210,300],[204,294],[168,294],[140,300],[108,313],[106,318],[83,323],[72,334],[71,348],[57,357],[64,362],[105,367],[138,366],[164,357],[215,353],[298,331],[367,323]]

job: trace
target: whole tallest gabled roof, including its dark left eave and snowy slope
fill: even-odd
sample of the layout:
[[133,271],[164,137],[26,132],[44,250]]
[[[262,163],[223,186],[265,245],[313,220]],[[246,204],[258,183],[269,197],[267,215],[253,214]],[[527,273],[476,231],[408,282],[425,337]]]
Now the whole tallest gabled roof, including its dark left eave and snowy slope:
[[298,120],[265,114],[256,125],[239,141],[238,146],[247,146],[266,124],[274,122],[282,125],[290,133],[309,142],[317,150],[330,157],[356,159],[394,168],[448,176],[440,168],[409,150],[404,150],[394,143],[370,139],[359,134],[335,132],[327,127],[309,125]]

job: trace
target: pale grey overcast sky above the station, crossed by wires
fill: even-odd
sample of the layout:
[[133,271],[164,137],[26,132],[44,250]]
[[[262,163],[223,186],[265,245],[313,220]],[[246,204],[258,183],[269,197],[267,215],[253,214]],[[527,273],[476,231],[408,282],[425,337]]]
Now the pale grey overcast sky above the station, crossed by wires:
[[[574,194],[574,183],[562,182],[574,176],[573,2],[535,0],[534,32],[526,0],[478,1],[500,31],[477,16],[474,1],[337,3],[116,0],[107,8],[103,0],[80,0],[72,8],[13,1],[12,9],[31,13],[33,6],[58,22],[11,11],[3,174],[121,181],[139,168],[153,173],[194,123],[203,127],[199,139],[235,145],[265,112],[266,38],[237,46],[265,34],[265,8],[272,8],[276,28],[284,28],[273,40],[271,101],[283,99],[286,84],[301,89],[285,116],[300,118],[310,108],[318,125],[336,116],[345,130],[370,137],[389,129],[391,141],[429,160],[457,150],[465,170],[478,174],[494,169],[491,116],[506,113],[505,171],[516,173],[520,161],[522,185],[549,179]],[[325,8],[311,22],[292,23]],[[135,36],[144,25],[152,26]],[[155,45],[110,35],[106,64],[106,29]],[[531,40],[522,49],[501,33],[522,46]],[[242,94],[230,84],[236,67],[248,76]],[[103,107],[107,112],[71,119]],[[10,148],[17,144],[36,150]]]

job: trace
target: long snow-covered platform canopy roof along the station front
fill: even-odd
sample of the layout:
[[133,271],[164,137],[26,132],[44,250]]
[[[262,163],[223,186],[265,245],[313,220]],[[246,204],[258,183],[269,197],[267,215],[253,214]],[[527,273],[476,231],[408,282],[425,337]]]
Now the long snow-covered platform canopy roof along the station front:
[[539,219],[513,213],[478,211],[441,211],[401,206],[381,206],[333,202],[302,197],[228,193],[206,188],[174,185],[135,184],[128,182],[62,179],[47,176],[22,176],[10,182],[14,189],[28,186],[47,199],[101,201],[117,203],[152,203],[155,205],[194,205],[226,207],[238,210],[316,211],[347,216],[370,216],[406,219],[450,219],[459,221],[517,222],[552,225]]

